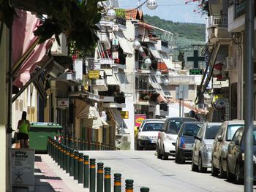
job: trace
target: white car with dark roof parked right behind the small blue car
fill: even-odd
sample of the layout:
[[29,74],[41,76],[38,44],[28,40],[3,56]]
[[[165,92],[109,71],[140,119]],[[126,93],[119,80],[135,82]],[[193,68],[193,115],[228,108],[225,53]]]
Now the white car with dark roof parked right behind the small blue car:
[[168,159],[169,155],[175,156],[175,144],[178,131],[184,122],[197,121],[195,118],[167,118],[164,128],[160,130],[157,141],[157,158]]

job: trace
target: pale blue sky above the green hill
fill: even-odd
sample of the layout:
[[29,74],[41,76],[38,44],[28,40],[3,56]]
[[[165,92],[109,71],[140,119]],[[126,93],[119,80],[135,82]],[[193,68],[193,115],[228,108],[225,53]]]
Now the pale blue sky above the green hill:
[[[138,7],[139,0],[118,0],[121,8],[133,9]],[[140,0],[143,4],[145,0]],[[181,23],[206,23],[206,16],[197,11],[197,2],[185,4],[186,0],[157,0],[157,9],[151,10],[142,6],[144,15],[158,16],[165,20]]]

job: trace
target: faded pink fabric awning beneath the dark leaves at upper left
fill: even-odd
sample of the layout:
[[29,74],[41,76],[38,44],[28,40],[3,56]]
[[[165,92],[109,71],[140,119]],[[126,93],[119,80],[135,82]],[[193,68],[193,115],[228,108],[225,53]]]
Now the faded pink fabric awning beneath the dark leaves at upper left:
[[34,30],[39,26],[39,18],[25,10],[15,9],[15,12],[18,16],[12,25],[12,75],[13,85],[22,88],[50,48],[51,40],[35,45],[38,37],[34,36]]

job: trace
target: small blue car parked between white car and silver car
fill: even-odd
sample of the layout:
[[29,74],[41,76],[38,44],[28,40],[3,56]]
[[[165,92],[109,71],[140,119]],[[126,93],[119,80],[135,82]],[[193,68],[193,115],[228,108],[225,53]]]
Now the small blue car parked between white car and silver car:
[[202,126],[203,123],[200,122],[185,122],[182,124],[176,140],[175,161],[177,164],[183,164],[186,160],[192,159],[195,135]]

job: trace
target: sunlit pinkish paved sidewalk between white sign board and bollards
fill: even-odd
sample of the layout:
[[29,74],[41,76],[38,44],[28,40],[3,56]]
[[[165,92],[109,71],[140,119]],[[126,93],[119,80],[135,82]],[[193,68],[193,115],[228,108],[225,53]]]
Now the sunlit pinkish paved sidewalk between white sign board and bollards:
[[34,162],[34,191],[81,192],[89,191],[69,177],[48,154],[36,154]]

